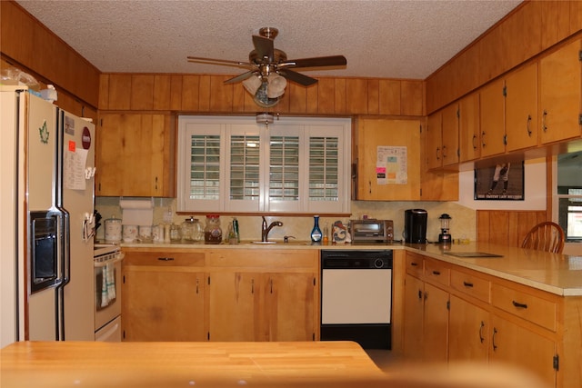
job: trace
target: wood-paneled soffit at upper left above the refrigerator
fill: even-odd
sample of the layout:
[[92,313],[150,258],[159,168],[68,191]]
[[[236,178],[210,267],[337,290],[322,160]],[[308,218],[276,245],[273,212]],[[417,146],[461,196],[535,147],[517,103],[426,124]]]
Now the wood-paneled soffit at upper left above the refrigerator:
[[99,70],[14,1],[0,1],[0,52],[39,81],[97,108]]

